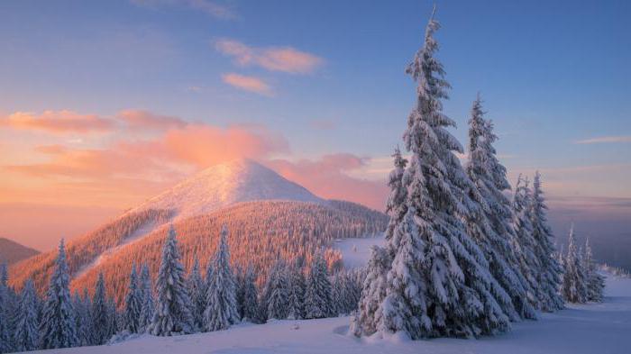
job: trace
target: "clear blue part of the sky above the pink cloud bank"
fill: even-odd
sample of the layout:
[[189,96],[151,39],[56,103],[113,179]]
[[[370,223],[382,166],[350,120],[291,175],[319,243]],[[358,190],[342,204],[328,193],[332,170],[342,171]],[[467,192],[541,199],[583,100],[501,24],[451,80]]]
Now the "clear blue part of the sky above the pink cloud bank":
[[[453,86],[445,112],[458,123],[453,132],[461,141],[480,91],[511,178],[541,168],[553,195],[631,197],[631,3],[437,6],[438,57]],[[0,115],[69,110],[113,117],[134,109],[219,127],[258,124],[288,143],[270,159],[349,153],[367,158],[350,176],[381,180],[414,102],[404,70],[431,7],[428,1],[3,1]],[[254,53],[290,48],[317,61],[299,72],[257,59],[239,63],[218,50],[221,41]],[[225,82],[229,74],[265,86],[243,90]],[[74,141],[104,148],[119,137]],[[59,143],[7,130],[0,138],[13,151],[13,159],[0,159],[4,164],[40,159],[15,148],[23,141]]]

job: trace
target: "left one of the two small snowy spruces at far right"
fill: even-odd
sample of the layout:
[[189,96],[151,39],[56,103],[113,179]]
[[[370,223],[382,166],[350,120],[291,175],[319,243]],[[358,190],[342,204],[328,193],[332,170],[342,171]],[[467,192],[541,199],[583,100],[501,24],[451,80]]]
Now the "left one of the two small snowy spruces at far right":
[[574,225],[570,228],[568,251],[563,261],[565,272],[561,294],[568,303],[584,304],[587,302],[587,277],[583,269],[583,260],[574,240]]

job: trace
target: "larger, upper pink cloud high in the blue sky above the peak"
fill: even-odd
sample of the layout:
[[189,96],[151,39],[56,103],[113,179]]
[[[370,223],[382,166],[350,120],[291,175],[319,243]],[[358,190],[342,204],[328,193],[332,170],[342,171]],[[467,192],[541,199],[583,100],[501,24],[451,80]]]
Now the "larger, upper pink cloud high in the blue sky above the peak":
[[238,65],[255,65],[270,71],[282,71],[289,74],[312,73],[325,61],[314,54],[292,47],[256,48],[240,41],[227,39],[216,41],[215,49],[233,57]]

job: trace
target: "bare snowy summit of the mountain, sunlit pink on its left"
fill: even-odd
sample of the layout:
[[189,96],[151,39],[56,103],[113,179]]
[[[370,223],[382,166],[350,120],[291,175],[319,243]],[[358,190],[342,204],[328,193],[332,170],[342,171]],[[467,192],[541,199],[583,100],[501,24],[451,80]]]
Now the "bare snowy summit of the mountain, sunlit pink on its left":
[[188,177],[128,213],[146,209],[169,209],[176,220],[210,213],[224,206],[255,200],[295,200],[325,203],[303,186],[250,159],[215,165]]

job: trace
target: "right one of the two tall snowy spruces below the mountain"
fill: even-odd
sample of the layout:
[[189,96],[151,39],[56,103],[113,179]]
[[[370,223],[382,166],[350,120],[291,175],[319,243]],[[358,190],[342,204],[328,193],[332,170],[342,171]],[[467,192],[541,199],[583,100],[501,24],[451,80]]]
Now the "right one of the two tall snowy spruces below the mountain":
[[227,238],[228,229],[224,225],[219,247],[213,259],[213,274],[206,290],[206,311],[204,312],[206,331],[227,330],[231,325],[239,322],[236,285],[230,268]]

